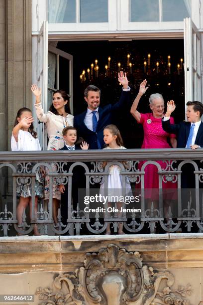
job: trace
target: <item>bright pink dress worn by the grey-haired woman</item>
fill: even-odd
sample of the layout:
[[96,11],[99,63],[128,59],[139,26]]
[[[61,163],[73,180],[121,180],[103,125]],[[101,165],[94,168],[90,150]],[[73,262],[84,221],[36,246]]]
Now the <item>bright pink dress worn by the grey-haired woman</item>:
[[[176,135],[168,134],[162,128],[162,119],[154,118],[152,113],[141,113],[141,118],[139,124],[142,124],[144,129],[144,140],[142,144],[142,149],[167,149],[171,148],[167,142],[167,138],[176,138]],[[170,117],[171,124],[174,124],[174,119]],[[146,161],[141,161],[138,165],[139,170]],[[166,163],[160,160],[156,160],[162,168],[166,168]],[[167,169],[166,169],[167,170]],[[145,192],[145,198],[151,198],[156,200],[159,198],[158,190],[152,190],[153,188],[159,188],[158,180],[158,168],[156,165],[148,164],[145,169],[144,175],[144,188],[147,189]],[[139,184],[138,187],[141,187]],[[168,182],[164,183],[162,181],[163,189],[175,189],[177,188],[177,183]],[[165,193],[165,194],[164,194]],[[170,190],[163,193],[164,199],[174,199],[173,192]]]

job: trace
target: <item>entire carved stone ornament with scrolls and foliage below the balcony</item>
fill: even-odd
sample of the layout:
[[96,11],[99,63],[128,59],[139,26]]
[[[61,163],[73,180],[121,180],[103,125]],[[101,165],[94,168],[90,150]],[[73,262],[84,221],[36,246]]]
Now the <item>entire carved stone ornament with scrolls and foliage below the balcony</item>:
[[84,267],[58,275],[53,284],[54,289],[37,288],[39,305],[191,305],[190,284],[173,289],[170,272],[143,266],[139,252],[113,244],[87,253]]

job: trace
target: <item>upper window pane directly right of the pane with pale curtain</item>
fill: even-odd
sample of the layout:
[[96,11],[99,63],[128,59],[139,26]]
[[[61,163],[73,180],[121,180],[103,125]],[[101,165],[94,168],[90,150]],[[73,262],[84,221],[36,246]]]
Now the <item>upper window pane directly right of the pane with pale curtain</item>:
[[108,0],[80,0],[80,22],[108,22]]

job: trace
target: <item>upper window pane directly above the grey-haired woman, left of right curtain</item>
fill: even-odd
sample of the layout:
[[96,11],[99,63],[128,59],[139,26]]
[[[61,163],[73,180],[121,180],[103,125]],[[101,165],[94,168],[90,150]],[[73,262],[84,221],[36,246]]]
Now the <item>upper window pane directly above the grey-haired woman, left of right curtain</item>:
[[159,21],[159,0],[130,0],[130,21]]

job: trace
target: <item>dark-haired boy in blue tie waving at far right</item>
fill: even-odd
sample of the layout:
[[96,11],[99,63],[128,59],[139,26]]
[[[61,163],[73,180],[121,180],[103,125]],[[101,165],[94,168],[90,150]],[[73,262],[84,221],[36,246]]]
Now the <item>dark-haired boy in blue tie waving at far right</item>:
[[[163,130],[177,135],[177,148],[191,148],[192,150],[203,148],[203,123],[201,122],[203,104],[200,102],[188,102],[186,105],[188,122],[171,124],[169,119],[176,105],[174,101],[167,103],[167,111],[162,119]],[[190,163],[182,167],[181,185],[182,188],[196,187],[194,166]]]

